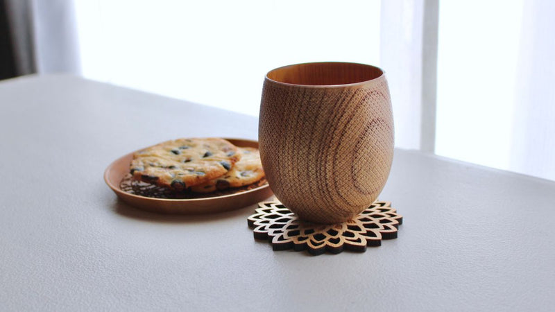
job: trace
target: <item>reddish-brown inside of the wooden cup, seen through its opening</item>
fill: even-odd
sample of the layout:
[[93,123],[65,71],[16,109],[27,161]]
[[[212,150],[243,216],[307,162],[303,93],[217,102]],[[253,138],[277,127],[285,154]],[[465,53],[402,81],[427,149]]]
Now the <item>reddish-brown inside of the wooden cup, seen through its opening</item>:
[[382,76],[378,67],[358,63],[316,62],[295,64],[268,72],[266,78],[289,85],[350,85]]

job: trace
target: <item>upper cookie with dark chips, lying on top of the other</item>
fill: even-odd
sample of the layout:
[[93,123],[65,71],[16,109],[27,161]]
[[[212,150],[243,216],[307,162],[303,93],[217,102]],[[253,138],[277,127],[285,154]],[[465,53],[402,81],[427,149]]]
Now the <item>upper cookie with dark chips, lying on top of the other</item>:
[[176,139],[133,154],[130,173],[135,180],[183,191],[228,173],[241,158],[237,152],[224,139]]

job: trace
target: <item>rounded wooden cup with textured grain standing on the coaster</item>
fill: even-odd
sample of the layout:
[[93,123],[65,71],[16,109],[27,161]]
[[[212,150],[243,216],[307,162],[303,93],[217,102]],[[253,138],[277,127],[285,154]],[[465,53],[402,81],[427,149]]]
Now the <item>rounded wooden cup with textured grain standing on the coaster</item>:
[[393,116],[377,67],[318,62],[273,69],[264,80],[258,129],[268,183],[302,220],[349,220],[384,188]]

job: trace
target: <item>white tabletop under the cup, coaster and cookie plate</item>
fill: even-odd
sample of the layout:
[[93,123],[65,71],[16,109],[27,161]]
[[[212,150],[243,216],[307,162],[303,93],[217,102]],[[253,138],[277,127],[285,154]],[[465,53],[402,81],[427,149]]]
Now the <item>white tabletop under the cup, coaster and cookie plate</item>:
[[313,257],[255,241],[255,206],[157,215],[103,181],[137,148],[210,136],[256,139],[257,119],[70,76],[0,83],[0,310],[555,309],[555,182],[395,150],[380,199],[398,239]]

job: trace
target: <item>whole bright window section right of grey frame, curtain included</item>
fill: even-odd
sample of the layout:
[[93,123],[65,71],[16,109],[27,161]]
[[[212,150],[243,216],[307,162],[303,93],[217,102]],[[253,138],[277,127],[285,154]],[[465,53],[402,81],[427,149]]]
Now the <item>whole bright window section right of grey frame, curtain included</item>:
[[438,155],[555,180],[554,16],[549,0],[441,2]]

